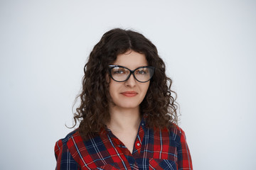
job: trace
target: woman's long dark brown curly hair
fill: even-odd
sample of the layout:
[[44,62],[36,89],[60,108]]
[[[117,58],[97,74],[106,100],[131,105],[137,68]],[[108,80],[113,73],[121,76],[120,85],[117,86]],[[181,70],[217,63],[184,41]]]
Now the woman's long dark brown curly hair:
[[80,106],[74,113],[75,125],[80,122],[78,132],[83,137],[98,134],[110,120],[108,65],[127,50],[144,54],[149,66],[155,67],[149,89],[139,106],[146,125],[149,128],[170,128],[178,123],[176,93],[171,91],[172,81],[166,77],[166,67],[156,46],[141,33],[114,28],[95,45],[84,67],[82,92],[77,97]]

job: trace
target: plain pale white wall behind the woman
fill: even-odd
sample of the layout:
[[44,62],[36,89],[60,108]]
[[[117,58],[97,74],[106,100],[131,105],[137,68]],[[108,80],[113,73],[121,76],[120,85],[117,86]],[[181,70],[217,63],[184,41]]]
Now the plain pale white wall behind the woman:
[[116,27],[158,47],[194,169],[255,169],[255,1],[0,3],[0,169],[55,168],[87,56]]

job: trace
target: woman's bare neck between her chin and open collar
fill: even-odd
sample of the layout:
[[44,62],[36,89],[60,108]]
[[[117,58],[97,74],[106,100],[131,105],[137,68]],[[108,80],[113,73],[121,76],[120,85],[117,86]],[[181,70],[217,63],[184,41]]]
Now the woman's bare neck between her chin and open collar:
[[110,108],[110,123],[107,124],[110,130],[138,130],[141,116],[139,107],[137,108],[118,108],[113,106]]

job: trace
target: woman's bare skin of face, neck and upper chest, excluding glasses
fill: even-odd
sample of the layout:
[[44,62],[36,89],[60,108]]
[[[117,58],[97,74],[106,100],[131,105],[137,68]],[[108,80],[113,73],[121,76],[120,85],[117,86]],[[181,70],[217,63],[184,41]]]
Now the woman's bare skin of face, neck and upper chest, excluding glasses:
[[[117,55],[117,60],[112,64],[134,70],[147,66],[147,61],[145,55],[129,50]],[[131,153],[141,121],[139,104],[148,89],[149,81],[140,83],[132,75],[124,82],[110,79],[110,96],[113,103],[110,103],[110,123],[107,123],[107,126]]]

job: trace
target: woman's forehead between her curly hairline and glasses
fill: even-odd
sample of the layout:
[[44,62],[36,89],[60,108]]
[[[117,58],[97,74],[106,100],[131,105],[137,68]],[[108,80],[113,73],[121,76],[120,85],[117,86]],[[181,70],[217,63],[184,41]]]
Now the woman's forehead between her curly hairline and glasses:
[[138,67],[147,66],[146,56],[139,52],[129,50],[124,54],[117,55],[117,60],[112,64],[121,65],[129,69],[137,69]]

